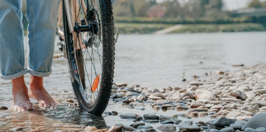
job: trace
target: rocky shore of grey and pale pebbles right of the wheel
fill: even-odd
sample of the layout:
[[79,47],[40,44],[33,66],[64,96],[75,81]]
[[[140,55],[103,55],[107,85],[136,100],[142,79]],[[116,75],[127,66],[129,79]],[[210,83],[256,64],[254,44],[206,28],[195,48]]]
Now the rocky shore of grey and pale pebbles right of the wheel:
[[[179,120],[177,115],[145,114],[141,117],[106,112],[105,115],[118,115],[134,123],[130,126],[116,124],[105,131],[266,132],[266,64],[206,76],[210,76],[208,80],[196,78],[187,87],[156,89],[114,84],[110,101],[128,108],[149,104],[154,110],[186,111],[181,116],[187,119],[210,117],[213,120],[192,122]],[[160,123],[161,126],[153,128],[145,123]]]

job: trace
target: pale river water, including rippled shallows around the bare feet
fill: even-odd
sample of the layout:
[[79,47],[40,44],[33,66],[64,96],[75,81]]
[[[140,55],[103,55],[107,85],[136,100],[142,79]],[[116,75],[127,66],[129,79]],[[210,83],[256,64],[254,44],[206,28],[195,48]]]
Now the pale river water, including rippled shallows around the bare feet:
[[[194,75],[204,78],[205,73],[217,70],[238,70],[232,64],[244,63],[251,66],[266,62],[266,32],[247,33],[202,33],[168,35],[120,35],[116,44],[114,82],[127,82],[148,87],[186,86]],[[25,43],[27,39],[25,37]],[[26,46],[25,46],[26,47]],[[56,46],[55,52],[58,53]],[[64,58],[54,59],[52,74],[45,78],[45,88],[60,104],[56,109],[13,113],[0,111],[0,132],[20,126],[24,131],[78,131],[82,126],[107,128],[114,124],[132,124],[132,120],[119,116],[95,117],[80,111],[75,105],[67,104],[66,99],[74,97]],[[26,82],[29,75],[25,76]],[[10,81],[0,80],[0,106],[10,108],[12,103]],[[119,109],[117,109],[119,108]],[[209,118],[186,119],[181,117],[187,112],[154,111],[149,105],[134,109],[110,102],[106,112],[117,111],[143,116],[179,115],[180,120],[207,121]],[[118,115],[119,115],[118,114]],[[8,115],[8,116],[7,116]],[[157,127],[160,124],[148,124]],[[68,129],[67,129],[68,128]],[[70,129],[69,129],[70,128]]]

